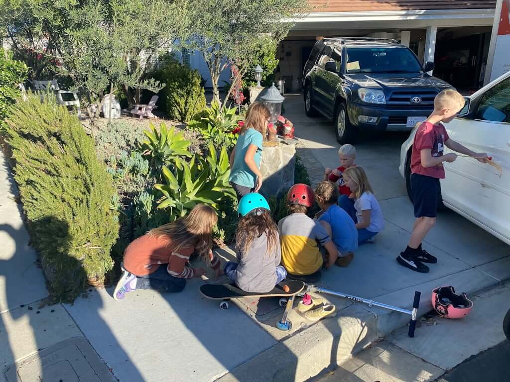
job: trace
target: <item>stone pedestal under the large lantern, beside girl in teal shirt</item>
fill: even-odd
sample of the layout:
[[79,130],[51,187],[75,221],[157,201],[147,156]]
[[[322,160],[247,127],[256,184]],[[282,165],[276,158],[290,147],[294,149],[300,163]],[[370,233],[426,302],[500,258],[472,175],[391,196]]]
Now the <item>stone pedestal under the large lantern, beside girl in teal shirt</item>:
[[281,142],[277,146],[264,146],[260,170],[264,177],[260,193],[266,198],[278,195],[294,184],[296,168],[295,143]]

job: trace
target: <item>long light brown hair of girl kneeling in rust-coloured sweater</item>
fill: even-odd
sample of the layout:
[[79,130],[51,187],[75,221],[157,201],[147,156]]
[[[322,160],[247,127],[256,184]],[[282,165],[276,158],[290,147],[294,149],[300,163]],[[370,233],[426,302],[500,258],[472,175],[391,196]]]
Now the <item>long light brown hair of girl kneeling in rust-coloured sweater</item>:
[[[186,217],[151,229],[147,234],[150,237],[168,237],[174,250],[198,247],[200,255],[207,259],[213,247],[212,229],[217,222],[218,215],[214,208],[197,204]],[[203,245],[203,242],[207,245]]]

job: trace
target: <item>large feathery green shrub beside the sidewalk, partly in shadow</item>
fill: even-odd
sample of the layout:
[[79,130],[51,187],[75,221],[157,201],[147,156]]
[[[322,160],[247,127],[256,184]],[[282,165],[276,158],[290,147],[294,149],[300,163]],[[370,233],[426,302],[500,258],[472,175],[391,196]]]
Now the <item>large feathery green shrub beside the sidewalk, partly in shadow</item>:
[[110,201],[112,178],[75,116],[55,100],[29,95],[8,122],[31,241],[55,301],[72,301],[85,282],[101,283],[112,268],[118,234]]

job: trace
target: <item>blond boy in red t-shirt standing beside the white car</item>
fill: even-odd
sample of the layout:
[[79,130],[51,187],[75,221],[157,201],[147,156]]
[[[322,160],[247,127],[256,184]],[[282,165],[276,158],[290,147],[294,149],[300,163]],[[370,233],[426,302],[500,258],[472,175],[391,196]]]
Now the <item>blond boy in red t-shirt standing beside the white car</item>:
[[443,162],[453,162],[455,153],[444,154],[444,146],[452,151],[476,157],[486,163],[486,153],[476,153],[448,137],[443,123],[452,121],[464,107],[464,97],[453,89],[446,89],[434,99],[432,114],[418,127],[411,154],[411,188],[416,221],[407,248],[397,257],[400,265],[426,273],[423,263],[437,263],[437,258],[423,250],[421,245],[436,224],[440,195],[439,179],[445,178]]

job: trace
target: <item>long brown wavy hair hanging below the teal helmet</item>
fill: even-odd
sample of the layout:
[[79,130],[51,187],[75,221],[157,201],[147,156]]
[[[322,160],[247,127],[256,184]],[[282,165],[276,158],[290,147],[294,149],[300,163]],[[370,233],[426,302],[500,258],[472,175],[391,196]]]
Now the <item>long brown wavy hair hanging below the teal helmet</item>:
[[236,250],[243,255],[250,248],[253,239],[263,234],[267,237],[267,252],[273,251],[277,245],[278,227],[274,223],[269,211],[264,208],[258,208],[247,213],[239,220],[236,230]]

